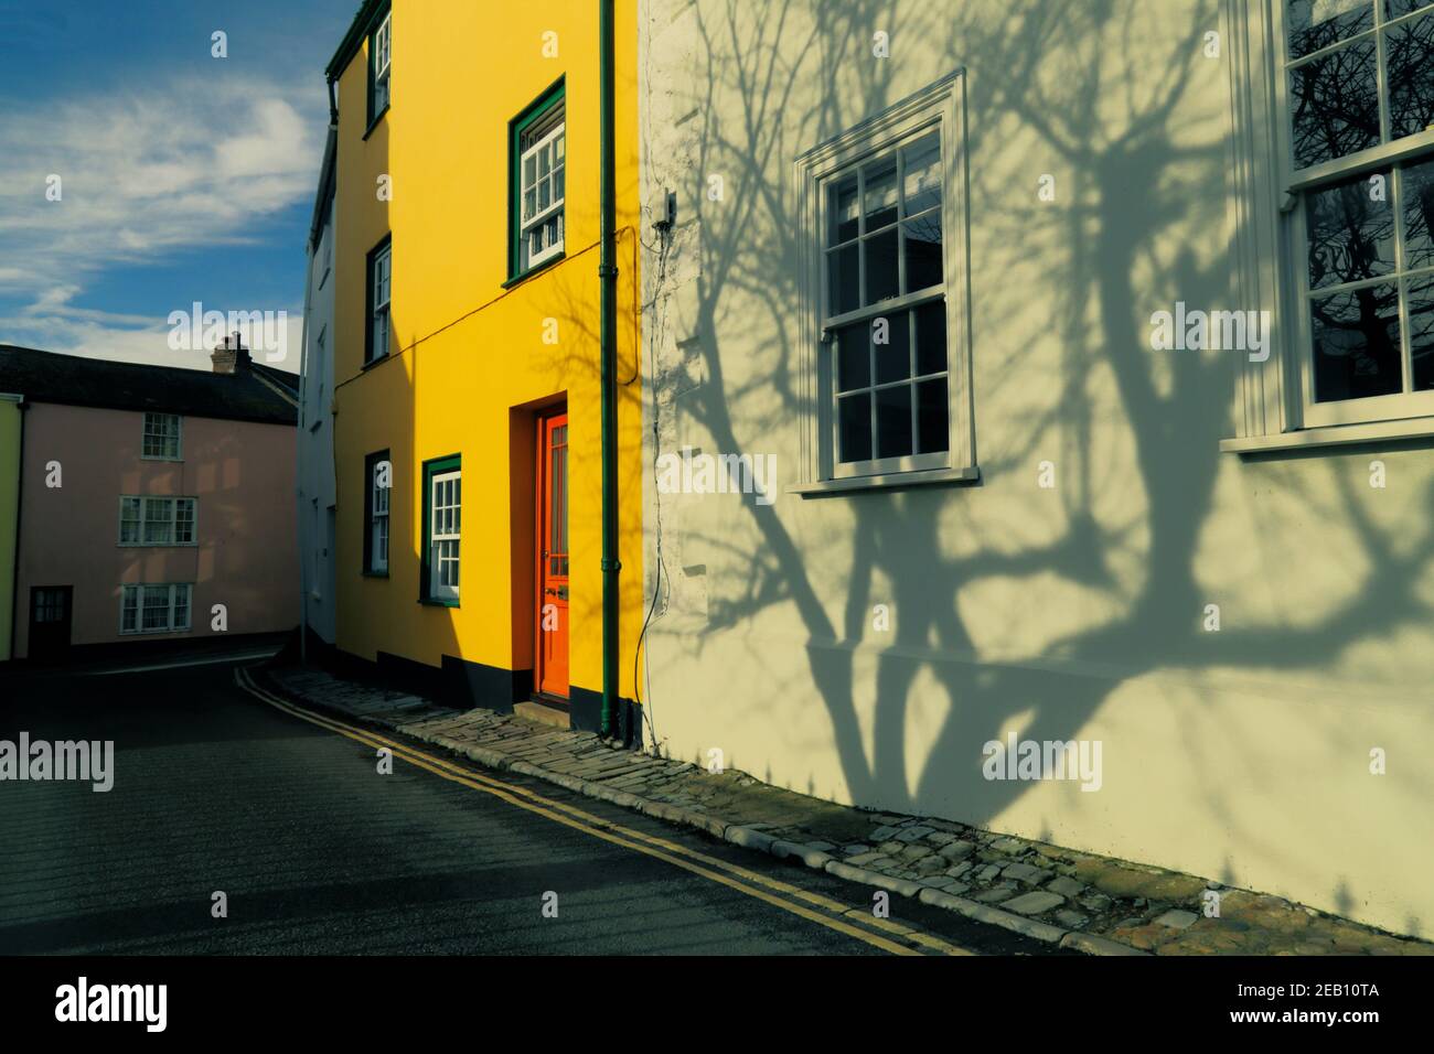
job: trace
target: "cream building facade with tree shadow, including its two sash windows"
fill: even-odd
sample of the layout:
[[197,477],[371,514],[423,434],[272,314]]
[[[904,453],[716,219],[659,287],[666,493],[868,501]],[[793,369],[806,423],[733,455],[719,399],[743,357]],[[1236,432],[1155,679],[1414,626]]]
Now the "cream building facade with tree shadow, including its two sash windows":
[[1434,6],[640,30],[648,734],[1427,936]]

